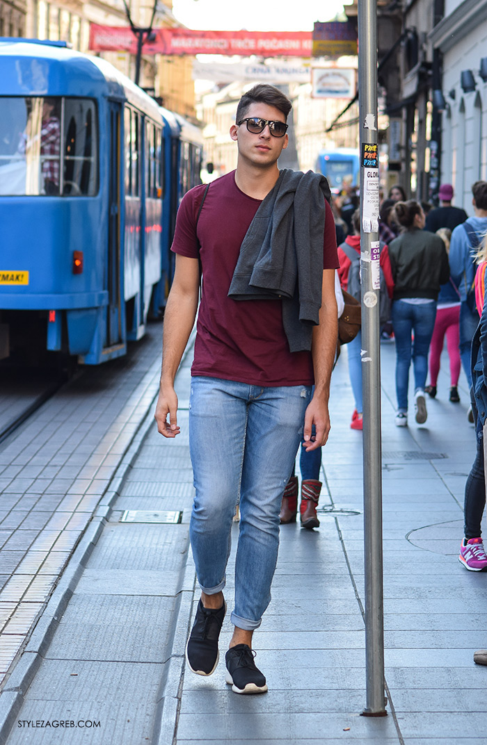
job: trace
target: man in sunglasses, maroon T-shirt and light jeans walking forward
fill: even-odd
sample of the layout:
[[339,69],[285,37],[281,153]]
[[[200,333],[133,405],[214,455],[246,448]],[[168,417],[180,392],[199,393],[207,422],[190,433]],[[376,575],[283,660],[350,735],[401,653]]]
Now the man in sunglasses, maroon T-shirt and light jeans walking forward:
[[196,492],[189,533],[201,600],[186,660],[199,675],[210,675],[218,664],[230,530],[240,497],[234,631],[225,658],[227,683],[240,694],[267,690],[251,647],[271,600],[284,486],[301,439],[312,450],[330,431],[335,226],[324,177],[277,168],[291,106],[273,86],[254,86],[230,127],[236,171],[183,198],[155,415],[160,433],[176,437],[174,380],[198,307],[201,260],[189,400]]

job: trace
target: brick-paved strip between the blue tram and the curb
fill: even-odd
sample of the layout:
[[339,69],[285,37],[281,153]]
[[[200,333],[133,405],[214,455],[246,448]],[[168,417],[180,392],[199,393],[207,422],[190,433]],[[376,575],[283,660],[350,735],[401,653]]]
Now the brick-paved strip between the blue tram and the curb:
[[157,393],[162,326],[0,444],[0,686]]

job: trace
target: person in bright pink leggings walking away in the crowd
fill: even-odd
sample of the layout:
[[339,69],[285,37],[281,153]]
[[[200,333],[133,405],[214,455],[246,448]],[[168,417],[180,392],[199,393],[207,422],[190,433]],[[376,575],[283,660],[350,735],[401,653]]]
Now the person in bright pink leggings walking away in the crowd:
[[[451,230],[440,228],[437,231],[443,238],[444,245],[450,249]],[[458,403],[458,379],[460,375],[461,361],[459,352],[459,314],[460,297],[458,290],[450,277],[446,284],[442,285],[438,296],[436,309],[435,329],[430,344],[430,385],[425,389],[430,397],[436,397],[436,383],[440,369],[440,357],[443,351],[444,336],[447,337],[448,357],[450,358],[450,401]]]

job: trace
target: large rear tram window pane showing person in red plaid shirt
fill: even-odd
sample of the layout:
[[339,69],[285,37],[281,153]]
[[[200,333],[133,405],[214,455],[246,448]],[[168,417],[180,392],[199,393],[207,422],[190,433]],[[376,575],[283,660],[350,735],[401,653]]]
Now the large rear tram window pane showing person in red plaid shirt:
[[57,196],[60,98],[0,98],[0,194]]

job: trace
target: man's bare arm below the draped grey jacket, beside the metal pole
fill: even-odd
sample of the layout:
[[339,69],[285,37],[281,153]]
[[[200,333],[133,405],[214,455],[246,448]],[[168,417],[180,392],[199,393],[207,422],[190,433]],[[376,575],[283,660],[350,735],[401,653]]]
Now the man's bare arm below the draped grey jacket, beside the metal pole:
[[[315,372],[315,393],[304,415],[304,448],[321,448],[330,433],[328,399],[330,378],[336,354],[338,319],[335,299],[335,270],[325,269],[321,287],[320,323],[312,330],[312,364]],[[315,425],[315,440],[311,440],[311,428]]]

